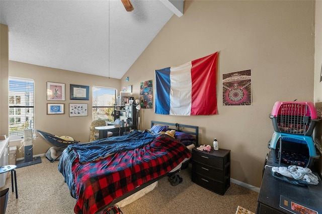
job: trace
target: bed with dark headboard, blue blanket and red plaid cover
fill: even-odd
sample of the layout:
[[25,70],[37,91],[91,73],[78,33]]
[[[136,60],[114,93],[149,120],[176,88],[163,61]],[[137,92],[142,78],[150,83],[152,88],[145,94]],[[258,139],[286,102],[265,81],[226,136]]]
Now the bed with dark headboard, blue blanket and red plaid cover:
[[68,145],[58,170],[76,198],[75,213],[100,213],[158,179],[176,173],[198,146],[198,127],[151,121],[151,128]]

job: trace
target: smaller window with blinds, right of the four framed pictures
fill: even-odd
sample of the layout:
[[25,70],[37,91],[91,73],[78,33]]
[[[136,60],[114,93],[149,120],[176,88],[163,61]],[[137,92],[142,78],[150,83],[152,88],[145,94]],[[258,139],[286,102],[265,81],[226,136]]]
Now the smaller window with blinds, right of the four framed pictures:
[[116,89],[93,86],[92,120],[114,121]]

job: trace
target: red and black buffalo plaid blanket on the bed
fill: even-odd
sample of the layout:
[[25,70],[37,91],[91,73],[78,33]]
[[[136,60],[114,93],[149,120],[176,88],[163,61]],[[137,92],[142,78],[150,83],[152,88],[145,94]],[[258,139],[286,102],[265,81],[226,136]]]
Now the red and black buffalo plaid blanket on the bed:
[[71,166],[76,189],[75,213],[95,213],[115,198],[162,176],[191,152],[175,139],[160,135],[151,143],[107,158]]

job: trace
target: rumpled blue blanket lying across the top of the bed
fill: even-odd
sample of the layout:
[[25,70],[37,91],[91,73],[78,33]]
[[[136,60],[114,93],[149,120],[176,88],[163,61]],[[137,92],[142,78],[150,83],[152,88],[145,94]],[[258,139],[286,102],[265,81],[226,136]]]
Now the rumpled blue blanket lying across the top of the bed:
[[[115,152],[142,147],[155,139],[147,131],[133,131],[132,133],[119,137],[109,137],[89,143],[78,143],[68,146],[78,155],[79,162],[86,163],[104,158]],[[75,157],[72,157],[73,161]]]

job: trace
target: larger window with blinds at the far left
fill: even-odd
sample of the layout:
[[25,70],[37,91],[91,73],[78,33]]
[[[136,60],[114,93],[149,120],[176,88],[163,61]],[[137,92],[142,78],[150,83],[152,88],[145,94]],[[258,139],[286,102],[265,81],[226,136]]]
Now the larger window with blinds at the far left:
[[[21,137],[34,128],[34,81],[9,78],[9,136]],[[12,139],[12,138],[11,138]]]

